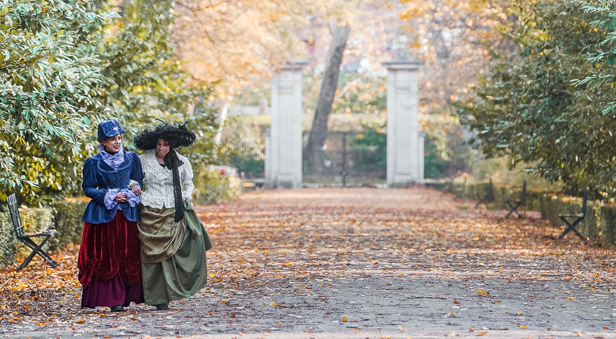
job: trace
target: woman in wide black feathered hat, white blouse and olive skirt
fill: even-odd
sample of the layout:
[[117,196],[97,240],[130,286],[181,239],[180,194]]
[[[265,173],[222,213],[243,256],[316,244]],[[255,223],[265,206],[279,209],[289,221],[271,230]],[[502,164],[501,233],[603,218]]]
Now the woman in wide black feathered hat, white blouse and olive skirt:
[[212,242],[192,207],[192,167],[176,152],[195,138],[186,123],[166,122],[134,138],[135,146],[146,151],[139,156],[144,171],[139,205],[144,297],[156,309],[194,295],[208,280],[205,252]]

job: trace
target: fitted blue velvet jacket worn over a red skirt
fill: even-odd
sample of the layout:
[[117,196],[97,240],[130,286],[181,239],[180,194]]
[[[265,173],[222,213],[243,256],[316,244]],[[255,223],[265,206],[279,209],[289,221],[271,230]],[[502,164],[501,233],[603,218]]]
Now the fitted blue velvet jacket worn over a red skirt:
[[103,224],[110,222],[121,205],[122,213],[128,221],[139,221],[139,206],[130,206],[128,203],[118,203],[115,208],[105,208],[105,194],[109,189],[126,189],[128,181],[132,179],[144,187],[144,175],[141,171],[141,163],[137,153],[124,152],[124,162],[114,171],[107,165],[103,158],[97,154],[90,157],[83,165],[83,184],[81,188],[86,197],[92,198],[87,204],[86,211],[81,221],[91,224]]

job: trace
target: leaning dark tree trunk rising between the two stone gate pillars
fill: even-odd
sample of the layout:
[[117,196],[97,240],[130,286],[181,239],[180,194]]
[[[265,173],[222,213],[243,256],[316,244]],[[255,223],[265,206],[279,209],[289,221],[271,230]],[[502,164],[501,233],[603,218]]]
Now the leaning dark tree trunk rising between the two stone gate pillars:
[[323,157],[323,145],[326,139],[327,122],[330,118],[331,104],[336,94],[336,86],[338,86],[342,52],[344,52],[350,32],[351,28],[346,25],[338,26],[336,23],[330,23],[330,50],[327,53],[327,63],[323,72],[321,89],[318,93],[317,109],[314,112],[312,129],[310,129],[306,149],[304,149],[308,168],[315,173],[323,171],[323,161],[325,160]]

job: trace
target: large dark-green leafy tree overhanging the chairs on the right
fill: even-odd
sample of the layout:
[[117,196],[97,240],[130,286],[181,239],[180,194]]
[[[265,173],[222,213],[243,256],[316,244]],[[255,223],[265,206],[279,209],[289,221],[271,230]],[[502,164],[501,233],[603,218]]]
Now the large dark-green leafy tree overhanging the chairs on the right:
[[494,55],[461,119],[488,156],[524,163],[572,194],[590,186],[614,197],[614,12],[568,0],[514,10],[519,22],[506,36],[517,49]]

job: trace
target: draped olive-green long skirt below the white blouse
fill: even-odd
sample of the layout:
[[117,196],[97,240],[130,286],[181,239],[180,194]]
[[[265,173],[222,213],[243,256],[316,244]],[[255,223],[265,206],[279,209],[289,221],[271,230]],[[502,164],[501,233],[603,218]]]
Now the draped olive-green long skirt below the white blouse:
[[194,295],[208,282],[208,233],[189,202],[174,223],[174,208],[140,205],[139,240],[145,303],[166,304]]

